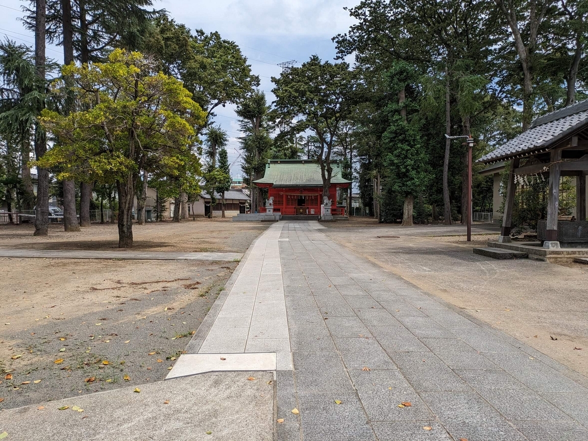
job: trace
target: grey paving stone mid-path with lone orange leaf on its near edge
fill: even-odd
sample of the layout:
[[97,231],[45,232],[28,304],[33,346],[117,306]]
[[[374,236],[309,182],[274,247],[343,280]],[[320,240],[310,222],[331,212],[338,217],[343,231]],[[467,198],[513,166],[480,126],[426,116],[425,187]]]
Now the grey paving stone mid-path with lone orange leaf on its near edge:
[[348,369],[395,369],[390,357],[375,338],[335,338],[343,362]]

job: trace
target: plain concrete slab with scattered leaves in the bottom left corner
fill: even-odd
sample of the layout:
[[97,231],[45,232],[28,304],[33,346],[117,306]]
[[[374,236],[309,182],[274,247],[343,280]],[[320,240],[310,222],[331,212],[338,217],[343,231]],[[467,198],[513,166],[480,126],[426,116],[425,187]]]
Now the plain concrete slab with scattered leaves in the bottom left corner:
[[273,441],[270,380],[271,372],[208,373],[39,403],[0,413],[0,433],[10,441]]

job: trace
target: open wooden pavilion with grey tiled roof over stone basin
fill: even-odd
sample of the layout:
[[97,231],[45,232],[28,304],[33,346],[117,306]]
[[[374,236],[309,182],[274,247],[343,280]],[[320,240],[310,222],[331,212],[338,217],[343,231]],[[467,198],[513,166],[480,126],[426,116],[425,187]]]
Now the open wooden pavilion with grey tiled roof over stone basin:
[[[499,243],[510,242],[517,187],[529,179],[549,179],[547,218],[539,221],[537,228],[543,247],[588,247],[588,100],[537,118],[526,132],[479,159],[485,164],[498,165],[502,161],[510,161],[510,174]],[[558,219],[562,176],[575,177],[577,202],[574,222]]]

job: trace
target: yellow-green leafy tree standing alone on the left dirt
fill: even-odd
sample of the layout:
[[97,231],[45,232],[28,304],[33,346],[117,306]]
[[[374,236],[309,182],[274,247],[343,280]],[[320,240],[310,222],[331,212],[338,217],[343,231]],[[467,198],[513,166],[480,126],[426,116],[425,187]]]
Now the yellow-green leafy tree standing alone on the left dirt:
[[[153,72],[141,53],[115,49],[108,63],[64,66],[83,108],[70,115],[45,110],[42,122],[60,143],[39,161],[58,177],[113,180],[119,197],[119,247],[132,247],[136,177],[146,163],[173,169],[188,163],[205,113],[179,80]],[[66,87],[62,84],[61,88]],[[67,166],[67,167],[65,167]],[[183,166],[183,165],[182,165]]]

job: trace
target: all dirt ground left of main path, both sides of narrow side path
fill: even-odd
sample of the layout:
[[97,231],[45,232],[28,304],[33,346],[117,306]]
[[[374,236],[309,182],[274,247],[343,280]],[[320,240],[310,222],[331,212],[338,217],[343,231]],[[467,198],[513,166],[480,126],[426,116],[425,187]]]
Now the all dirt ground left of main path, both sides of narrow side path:
[[[135,225],[135,249],[244,252],[267,225]],[[0,246],[116,246],[115,225],[81,233],[3,226]],[[124,252],[124,251],[121,251]],[[0,409],[159,381],[238,262],[0,258]]]

